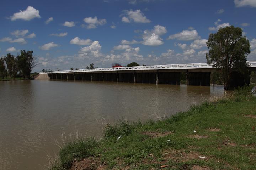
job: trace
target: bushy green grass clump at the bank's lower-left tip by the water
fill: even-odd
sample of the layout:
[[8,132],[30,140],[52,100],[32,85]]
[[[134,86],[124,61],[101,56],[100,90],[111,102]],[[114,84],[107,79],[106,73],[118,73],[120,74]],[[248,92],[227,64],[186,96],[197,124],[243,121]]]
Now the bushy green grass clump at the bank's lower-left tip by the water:
[[95,138],[77,138],[60,149],[60,161],[64,168],[69,168],[75,158],[87,158],[93,154],[92,148],[98,145]]

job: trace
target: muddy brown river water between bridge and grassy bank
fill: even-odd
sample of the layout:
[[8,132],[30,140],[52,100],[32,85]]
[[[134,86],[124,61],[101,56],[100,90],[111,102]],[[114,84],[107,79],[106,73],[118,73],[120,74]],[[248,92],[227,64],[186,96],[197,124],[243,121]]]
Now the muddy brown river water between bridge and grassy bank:
[[102,120],[170,116],[223,87],[88,81],[0,81],[0,169],[44,169],[62,130],[102,134]]

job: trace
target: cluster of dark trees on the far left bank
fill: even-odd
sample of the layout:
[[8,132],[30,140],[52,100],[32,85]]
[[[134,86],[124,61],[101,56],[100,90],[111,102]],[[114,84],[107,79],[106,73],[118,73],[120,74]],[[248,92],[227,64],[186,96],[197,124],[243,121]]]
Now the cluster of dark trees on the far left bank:
[[17,73],[25,79],[30,78],[30,73],[37,65],[36,57],[33,51],[21,50],[17,56],[8,53],[5,57],[0,58],[0,76],[1,79],[7,76],[15,79]]

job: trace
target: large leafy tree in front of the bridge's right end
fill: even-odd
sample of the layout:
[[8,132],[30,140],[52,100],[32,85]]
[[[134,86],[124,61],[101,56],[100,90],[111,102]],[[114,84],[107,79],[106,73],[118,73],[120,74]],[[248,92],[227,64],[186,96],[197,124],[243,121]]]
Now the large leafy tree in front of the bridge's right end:
[[241,72],[247,67],[247,55],[251,52],[249,40],[242,36],[241,28],[228,26],[210,34],[207,47],[207,63],[221,71],[224,89],[230,89],[232,68]]

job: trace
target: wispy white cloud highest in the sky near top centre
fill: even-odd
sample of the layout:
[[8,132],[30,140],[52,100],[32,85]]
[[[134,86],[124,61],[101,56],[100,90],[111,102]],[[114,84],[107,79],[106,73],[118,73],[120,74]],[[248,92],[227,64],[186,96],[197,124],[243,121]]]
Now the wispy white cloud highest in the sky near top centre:
[[136,23],[149,23],[151,22],[149,19],[146,18],[146,16],[140,11],[140,10],[124,10],[123,11],[125,15],[122,18],[122,22],[136,22]]

